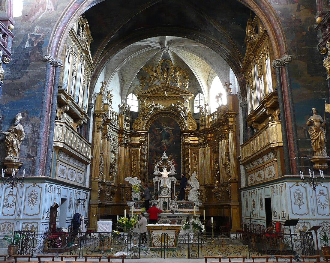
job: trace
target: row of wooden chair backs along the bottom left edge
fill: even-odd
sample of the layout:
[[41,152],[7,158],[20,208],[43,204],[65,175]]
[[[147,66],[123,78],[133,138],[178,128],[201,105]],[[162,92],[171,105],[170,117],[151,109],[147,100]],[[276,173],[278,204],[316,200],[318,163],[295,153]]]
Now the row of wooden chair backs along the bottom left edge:
[[[112,262],[111,259],[122,259],[122,263],[124,263],[124,259],[126,255],[109,255],[107,256],[108,261],[101,261],[102,255],[83,255],[85,261],[77,261],[79,255],[58,255],[58,257],[61,259],[61,261],[54,261],[55,255],[36,255],[38,258],[38,261],[31,261],[32,255],[13,255],[14,260],[7,260],[7,254],[0,255],[0,257],[4,257],[4,261],[0,261],[0,263],[41,263],[41,260],[43,259],[44,263],[67,263],[65,259],[67,258],[74,258],[74,261],[71,261],[71,263],[94,263],[93,261],[88,261],[88,259],[91,258],[98,258],[99,263],[108,263]],[[19,258],[27,258],[28,260],[17,260]],[[46,258],[51,258],[51,260],[45,260]]]

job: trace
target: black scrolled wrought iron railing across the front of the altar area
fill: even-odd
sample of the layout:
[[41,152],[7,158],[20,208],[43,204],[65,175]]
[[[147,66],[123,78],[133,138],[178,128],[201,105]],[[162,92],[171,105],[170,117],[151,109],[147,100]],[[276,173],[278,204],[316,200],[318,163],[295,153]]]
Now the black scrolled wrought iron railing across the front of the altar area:
[[[126,254],[127,258],[203,258],[204,255],[314,255],[312,232],[293,233],[63,233],[17,231],[19,254]],[[292,238],[292,242],[291,242]],[[144,243],[144,241],[147,241]],[[292,244],[292,246],[291,246]]]

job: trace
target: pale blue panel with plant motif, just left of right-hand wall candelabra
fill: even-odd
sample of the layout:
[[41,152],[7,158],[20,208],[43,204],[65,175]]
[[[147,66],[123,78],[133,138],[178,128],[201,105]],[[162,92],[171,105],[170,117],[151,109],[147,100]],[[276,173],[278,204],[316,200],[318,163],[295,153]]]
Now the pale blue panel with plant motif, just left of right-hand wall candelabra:
[[291,212],[296,215],[309,214],[306,185],[295,183],[290,186]]

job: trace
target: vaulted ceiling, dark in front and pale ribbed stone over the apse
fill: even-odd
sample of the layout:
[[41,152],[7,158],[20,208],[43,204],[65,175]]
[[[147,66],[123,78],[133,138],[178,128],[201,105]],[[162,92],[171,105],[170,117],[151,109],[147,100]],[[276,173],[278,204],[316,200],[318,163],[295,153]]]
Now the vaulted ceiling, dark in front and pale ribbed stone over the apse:
[[222,83],[229,80],[229,67],[242,82],[250,10],[238,1],[95,2],[84,14],[94,39],[92,82],[106,67],[106,79],[119,73],[122,95],[128,94],[132,81],[146,75],[142,67],[157,65],[164,57],[191,74],[192,88],[206,96],[215,75]]

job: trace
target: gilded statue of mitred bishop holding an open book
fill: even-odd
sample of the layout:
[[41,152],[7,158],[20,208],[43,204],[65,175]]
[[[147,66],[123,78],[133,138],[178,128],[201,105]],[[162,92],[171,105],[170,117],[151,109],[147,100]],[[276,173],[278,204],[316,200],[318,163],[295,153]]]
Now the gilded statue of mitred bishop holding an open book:
[[14,125],[10,126],[6,132],[0,131],[0,134],[4,134],[6,136],[5,145],[7,156],[5,160],[19,161],[20,145],[25,138],[24,128],[20,124],[21,118],[22,115],[18,113],[15,116]]

